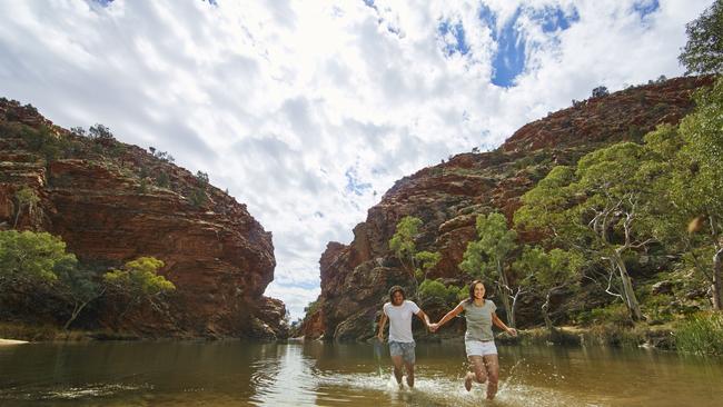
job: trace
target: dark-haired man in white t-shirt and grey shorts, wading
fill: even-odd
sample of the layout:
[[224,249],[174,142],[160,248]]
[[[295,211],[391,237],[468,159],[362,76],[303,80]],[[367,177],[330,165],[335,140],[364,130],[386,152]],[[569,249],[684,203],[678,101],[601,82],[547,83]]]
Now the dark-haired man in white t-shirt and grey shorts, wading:
[[413,301],[405,299],[404,289],[394,286],[389,289],[389,300],[382,308],[377,338],[384,341],[384,326],[389,319],[389,355],[394,365],[394,377],[402,385],[402,365],[407,370],[407,385],[414,387],[414,337],[412,336],[412,315],[416,315],[429,328],[429,317]]

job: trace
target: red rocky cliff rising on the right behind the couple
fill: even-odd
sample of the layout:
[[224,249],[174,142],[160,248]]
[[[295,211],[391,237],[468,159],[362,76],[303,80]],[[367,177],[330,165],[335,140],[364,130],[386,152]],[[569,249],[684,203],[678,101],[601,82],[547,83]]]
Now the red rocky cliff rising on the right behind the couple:
[[[443,256],[428,277],[460,286],[467,277],[457,265],[475,238],[478,214],[499,210],[511,219],[519,197],[555,165],[574,163],[613,142],[640,141],[660,123],[676,123],[692,108],[692,91],[711,82],[677,78],[580,102],[522,127],[495,151],[462,153],[397,181],[354,229],[351,244],[328,245],[320,260],[321,306],[298,334],[341,340],[373,336],[387,289],[395,284],[413,287],[388,248],[404,216],[424,222],[418,249]],[[523,304],[519,324],[536,322],[536,314]]]

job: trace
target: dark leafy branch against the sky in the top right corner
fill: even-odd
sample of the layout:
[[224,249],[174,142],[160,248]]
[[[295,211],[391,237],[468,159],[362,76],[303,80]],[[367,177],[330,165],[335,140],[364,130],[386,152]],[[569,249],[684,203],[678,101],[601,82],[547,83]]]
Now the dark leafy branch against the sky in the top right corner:
[[705,9],[685,26],[687,42],[677,57],[690,73],[721,73],[723,70],[723,1]]

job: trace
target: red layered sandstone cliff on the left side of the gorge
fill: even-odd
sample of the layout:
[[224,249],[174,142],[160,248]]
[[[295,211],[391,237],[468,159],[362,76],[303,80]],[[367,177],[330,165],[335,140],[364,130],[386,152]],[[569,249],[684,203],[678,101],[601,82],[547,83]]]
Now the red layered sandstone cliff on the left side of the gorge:
[[[276,265],[271,234],[245,205],[143,149],[78,137],[31,107],[2,100],[0,125],[0,225],[13,227],[14,192],[30,187],[41,200],[21,210],[18,229],[62,237],[97,270],[156,257],[177,287],[164,309],[139,308],[122,320],[119,305],[101,299],[86,325],[142,336],[283,334],[283,302],[263,296]],[[23,126],[49,141],[36,145]]]

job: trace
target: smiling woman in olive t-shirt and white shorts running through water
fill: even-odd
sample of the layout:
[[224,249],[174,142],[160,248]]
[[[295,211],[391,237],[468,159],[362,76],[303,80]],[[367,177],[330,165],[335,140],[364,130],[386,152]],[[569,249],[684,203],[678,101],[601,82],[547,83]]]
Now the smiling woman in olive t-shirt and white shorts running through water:
[[497,360],[497,347],[495,337],[492,334],[492,325],[496,325],[507,334],[517,336],[517,330],[508,328],[495,314],[495,302],[485,299],[485,285],[479,280],[472,281],[469,286],[469,298],[459,302],[455,309],[445,315],[439,322],[429,325],[434,332],[452,318],[463,311],[467,319],[467,331],[465,332],[465,349],[472,371],[465,376],[465,388],[472,389],[472,381],[484,384],[487,379],[487,399],[492,400],[497,394],[497,380],[499,378],[499,363]]

